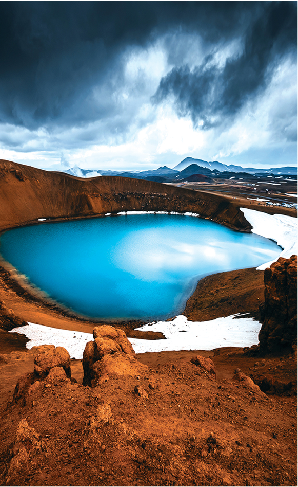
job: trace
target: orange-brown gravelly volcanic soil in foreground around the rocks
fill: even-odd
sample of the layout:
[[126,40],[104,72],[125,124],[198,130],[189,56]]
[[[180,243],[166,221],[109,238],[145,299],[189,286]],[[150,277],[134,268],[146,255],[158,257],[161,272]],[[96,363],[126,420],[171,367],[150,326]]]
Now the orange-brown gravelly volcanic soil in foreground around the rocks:
[[[33,370],[36,354],[2,356],[2,485],[296,485],[296,399],[233,381],[235,367],[274,373],[293,368],[292,358],[203,352],[215,378],[190,362],[195,352],[148,353],[138,356],[147,372],[94,389],[72,360],[78,384],[41,381],[26,404],[13,404],[16,377]],[[36,444],[16,441],[23,419]],[[27,456],[16,455],[22,444]]]

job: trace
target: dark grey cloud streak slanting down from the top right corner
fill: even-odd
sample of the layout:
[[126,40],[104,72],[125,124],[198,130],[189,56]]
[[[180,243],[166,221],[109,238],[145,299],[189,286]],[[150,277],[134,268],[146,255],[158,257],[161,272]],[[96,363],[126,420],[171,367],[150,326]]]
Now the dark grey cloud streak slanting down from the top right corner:
[[212,56],[192,70],[188,65],[174,67],[161,80],[155,102],[174,96],[180,115],[190,114],[194,123],[202,120],[208,129],[262,91],[282,58],[296,56],[297,5],[264,2],[255,14],[242,32],[240,56],[227,58],[223,68],[212,65]]

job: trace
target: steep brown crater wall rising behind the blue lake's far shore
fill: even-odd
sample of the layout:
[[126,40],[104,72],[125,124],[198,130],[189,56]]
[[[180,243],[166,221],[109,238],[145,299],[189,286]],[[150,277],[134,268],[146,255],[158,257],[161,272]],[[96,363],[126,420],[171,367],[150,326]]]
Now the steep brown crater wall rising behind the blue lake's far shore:
[[0,160],[1,229],[38,219],[86,218],[120,211],[191,211],[249,231],[239,205],[220,195],[117,176],[89,179]]

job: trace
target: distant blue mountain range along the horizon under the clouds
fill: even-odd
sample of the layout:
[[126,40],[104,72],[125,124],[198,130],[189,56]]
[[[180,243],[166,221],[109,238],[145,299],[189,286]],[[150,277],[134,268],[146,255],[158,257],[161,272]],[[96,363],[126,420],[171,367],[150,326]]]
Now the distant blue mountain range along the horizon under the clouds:
[[[213,178],[230,178],[233,175],[240,177],[261,175],[297,175],[297,168],[293,166],[286,166],[281,168],[257,169],[257,168],[242,168],[241,166],[234,166],[230,164],[226,166],[217,160],[208,162],[203,159],[194,159],[193,157],[186,157],[177,164],[174,169],[167,166],[160,167],[148,171],[105,171],[105,170],[89,170],[74,167],[64,171],[67,174],[77,177],[96,177],[96,176],[122,176],[132,177],[135,179],[147,179],[148,181],[156,181],[158,183],[177,183],[181,181],[209,181]],[[204,177],[203,177],[204,176]],[[213,178],[212,178],[213,176]]]

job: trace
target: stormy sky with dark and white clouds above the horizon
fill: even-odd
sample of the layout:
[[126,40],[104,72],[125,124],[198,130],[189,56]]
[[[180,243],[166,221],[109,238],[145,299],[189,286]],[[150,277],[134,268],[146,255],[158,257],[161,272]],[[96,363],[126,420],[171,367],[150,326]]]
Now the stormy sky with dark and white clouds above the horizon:
[[0,157],[297,164],[297,3],[0,2]]

